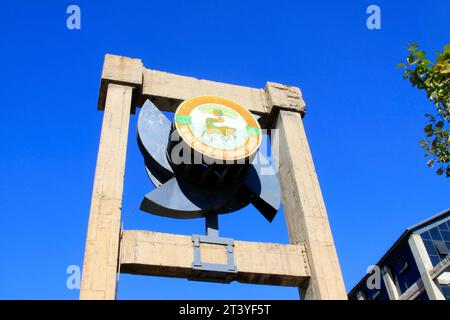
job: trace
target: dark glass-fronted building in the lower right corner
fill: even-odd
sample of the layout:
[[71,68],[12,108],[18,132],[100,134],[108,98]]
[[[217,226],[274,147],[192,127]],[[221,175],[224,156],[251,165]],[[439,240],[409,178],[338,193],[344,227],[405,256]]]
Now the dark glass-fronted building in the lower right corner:
[[[413,234],[420,235],[419,241],[423,242],[425,253],[418,254],[417,251],[413,253],[408,241]],[[414,300],[429,300],[418,264],[429,265],[431,261],[433,270],[440,270],[434,278],[434,283],[443,297],[450,300],[449,260],[450,210],[447,210],[403,233],[377,263],[381,278],[378,288],[374,289],[373,284],[370,283],[373,278],[371,273],[350,291],[348,298],[350,300],[392,300],[408,297]]]

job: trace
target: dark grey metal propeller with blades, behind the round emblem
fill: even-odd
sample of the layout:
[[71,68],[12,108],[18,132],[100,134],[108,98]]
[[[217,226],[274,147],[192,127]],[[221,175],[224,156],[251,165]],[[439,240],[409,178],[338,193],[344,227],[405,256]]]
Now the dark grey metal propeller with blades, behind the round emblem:
[[[204,154],[200,154],[200,162],[195,162],[198,150],[186,144],[175,122],[171,123],[150,100],[139,114],[137,140],[156,187],[145,195],[141,210],[186,219],[230,213],[252,203],[268,221],[275,217],[280,187],[270,166],[264,166],[262,172],[261,163],[268,161],[260,151],[241,162],[211,163]],[[189,148],[192,154],[184,157],[188,161],[174,160],[174,152]]]

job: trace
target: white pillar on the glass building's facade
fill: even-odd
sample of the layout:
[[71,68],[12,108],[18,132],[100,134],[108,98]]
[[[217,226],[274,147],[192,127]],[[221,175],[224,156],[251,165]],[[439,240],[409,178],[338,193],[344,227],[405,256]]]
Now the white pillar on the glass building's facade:
[[437,279],[435,281],[430,276],[433,264],[428,256],[422,237],[418,234],[412,234],[409,237],[408,243],[414,255],[414,260],[419,269],[420,277],[428,294],[428,298],[430,300],[445,300],[445,297],[439,288]]

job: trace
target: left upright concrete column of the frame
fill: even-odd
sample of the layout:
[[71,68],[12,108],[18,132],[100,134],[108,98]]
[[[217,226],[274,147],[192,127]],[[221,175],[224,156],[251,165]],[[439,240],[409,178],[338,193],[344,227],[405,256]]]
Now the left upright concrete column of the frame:
[[133,88],[108,84],[83,263],[80,299],[114,299]]

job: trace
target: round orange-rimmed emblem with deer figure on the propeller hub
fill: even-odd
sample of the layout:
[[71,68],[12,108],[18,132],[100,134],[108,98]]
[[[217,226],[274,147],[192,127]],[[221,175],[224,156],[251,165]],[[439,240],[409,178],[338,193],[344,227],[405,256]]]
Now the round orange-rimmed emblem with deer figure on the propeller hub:
[[175,127],[191,148],[219,160],[249,158],[261,144],[261,127],[253,115],[216,96],[184,101],[175,111]]

